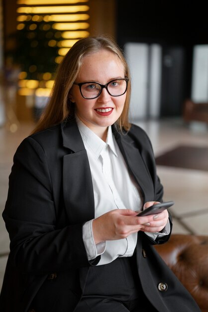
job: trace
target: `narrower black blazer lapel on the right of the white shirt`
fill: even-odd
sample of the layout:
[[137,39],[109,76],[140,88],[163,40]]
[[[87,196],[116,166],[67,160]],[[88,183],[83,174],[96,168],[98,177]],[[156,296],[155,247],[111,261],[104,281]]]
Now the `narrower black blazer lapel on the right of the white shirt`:
[[144,202],[154,200],[153,181],[135,142],[128,135],[114,135],[128,168],[141,188]]

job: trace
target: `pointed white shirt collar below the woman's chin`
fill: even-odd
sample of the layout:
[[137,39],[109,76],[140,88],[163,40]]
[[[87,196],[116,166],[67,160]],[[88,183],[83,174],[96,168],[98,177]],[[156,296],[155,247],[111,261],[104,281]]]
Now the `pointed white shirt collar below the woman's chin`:
[[105,143],[90,128],[88,128],[77,116],[76,122],[85,147],[87,146],[87,148],[89,148],[93,152],[96,159],[98,159],[98,157],[101,155],[102,151],[104,150],[104,148],[106,148],[107,145],[109,146],[109,149],[113,152],[113,154],[117,156],[111,126],[108,127],[107,139]]

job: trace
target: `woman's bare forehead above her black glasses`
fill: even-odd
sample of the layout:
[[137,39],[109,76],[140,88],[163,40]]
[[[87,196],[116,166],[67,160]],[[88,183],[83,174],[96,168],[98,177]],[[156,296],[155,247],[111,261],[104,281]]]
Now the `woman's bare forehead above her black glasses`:
[[122,61],[115,53],[104,49],[84,56],[79,73],[79,78],[85,81],[89,79],[101,81],[102,78],[106,81],[106,79],[123,76]]

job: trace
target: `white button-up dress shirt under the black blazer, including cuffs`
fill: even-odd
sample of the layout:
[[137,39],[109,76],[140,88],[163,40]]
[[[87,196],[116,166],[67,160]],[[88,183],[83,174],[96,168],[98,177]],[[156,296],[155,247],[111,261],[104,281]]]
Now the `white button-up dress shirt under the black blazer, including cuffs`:
[[[113,209],[142,210],[141,192],[128,172],[123,156],[112,135],[111,127],[108,127],[105,143],[78,118],[76,120],[92,173],[95,218]],[[83,240],[89,260],[101,255],[98,265],[104,265],[117,257],[133,255],[137,233],[133,233],[124,239],[104,241],[96,245],[93,239],[92,221],[90,220],[83,225]],[[146,234],[155,239],[158,235],[169,234],[169,231],[170,226],[168,224],[163,233]]]

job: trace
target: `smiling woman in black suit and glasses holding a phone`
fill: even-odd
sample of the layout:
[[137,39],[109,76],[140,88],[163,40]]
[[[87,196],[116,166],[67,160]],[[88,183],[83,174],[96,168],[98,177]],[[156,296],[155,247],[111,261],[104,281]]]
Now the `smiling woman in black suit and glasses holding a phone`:
[[130,77],[106,37],[79,40],[17,149],[3,218],[4,312],[198,312],[154,244],[171,233],[151,143],[128,122]]

